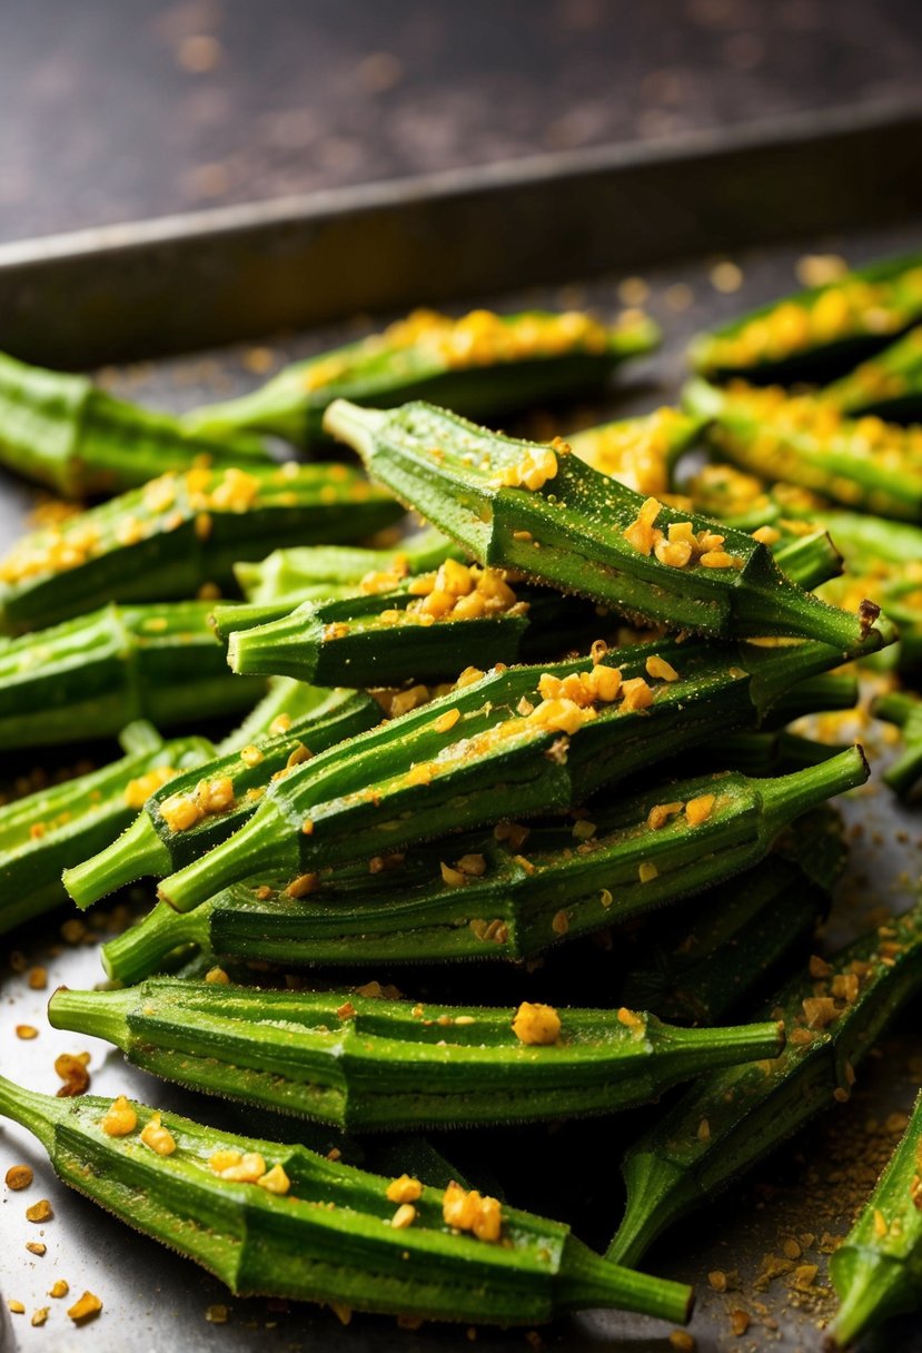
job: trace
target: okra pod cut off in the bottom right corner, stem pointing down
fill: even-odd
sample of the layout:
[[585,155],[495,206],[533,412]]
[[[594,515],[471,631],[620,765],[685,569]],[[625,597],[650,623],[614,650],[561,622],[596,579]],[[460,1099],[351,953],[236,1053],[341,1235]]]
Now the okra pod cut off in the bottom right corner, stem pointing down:
[[922,1096],[854,1227],[829,1261],[840,1308],[827,1344],[850,1348],[865,1330],[922,1306],[919,1151]]

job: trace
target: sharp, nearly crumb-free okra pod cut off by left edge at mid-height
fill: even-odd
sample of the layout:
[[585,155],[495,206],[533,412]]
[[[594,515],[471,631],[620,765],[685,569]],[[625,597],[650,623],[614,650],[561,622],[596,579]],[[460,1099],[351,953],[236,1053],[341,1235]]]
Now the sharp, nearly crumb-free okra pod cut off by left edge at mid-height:
[[242,713],[265,682],[228,671],[208,626],[212,602],[103,606],[37,635],[0,640],[0,748],[115,737]]

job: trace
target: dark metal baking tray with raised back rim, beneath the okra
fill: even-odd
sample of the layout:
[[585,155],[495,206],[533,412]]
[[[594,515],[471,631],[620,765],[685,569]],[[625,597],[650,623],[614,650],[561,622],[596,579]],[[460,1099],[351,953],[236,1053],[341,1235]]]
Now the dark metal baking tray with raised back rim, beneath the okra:
[[[744,129],[729,138],[699,135],[660,149],[541,157],[0,246],[0,349],[49,364],[107,364],[101,376],[119,394],[178,409],[242,391],[265,379],[265,371],[254,373],[257,365],[277,369],[292,356],[341,342],[366,327],[370,314],[437,302],[454,308],[466,302],[500,308],[546,303],[611,313],[619,306],[619,279],[642,271],[650,287],[648,308],[664,323],[666,342],[654,357],[627,368],[604,400],[554,415],[554,426],[572,428],[675,399],[691,333],[791,290],[803,253],[835,250],[858,264],[917,248],[921,146],[918,110],[880,108],[860,119],[830,114]],[[744,275],[733,295],[719,294],[710,281],[715,258],[727,256]],[[9,545],[32,501],[20,483],[0,482],[0,548]],[[861,725],[856,733],[876,764],[887,756],[879,725]],[[61,748],[57,760],[66,764],[76,755]],[[895,808],[876,781],[849,797],[845,813],[854,839],[830,920],[835,940],[863,928],[875,908],[902,909],[913,901],[922,848],[918,817]],[[93,1092],[127,1092],[239,1126],[241,1109],[165,1086],[127,1069],[105,1045],[47,1026],[47,993],[31,990],[15,967],[46,965],[49,989],[92,985],[101,977],[93,942],[61,942],[66,915],[49,916],[0,944],[0,1069],[53,1092],[57,1054],[87,1049]],[[362,977],[414,989],[407,970]],[[477,981],[476,969],[466,981]],[[539,973],[518,973],[515,981],[531,982],[539,999]],[[496,999],[498,985],[493,974],[484,999]],[[20,1023],[37,1026],[38,1039],[18,1040],[14,1027]],[[822,1295],[825,1256],[817,1243],[804,1246],[806,1258],[821,1265],[811,1293],[792,1295],[785,1275],[771,1281],[760,1281],[760,1275],[785,1239],[814,1234],[822,1242],[823,1233],[848,1229],[861,1188],[869,1187],[868,1172],[895,1142],[896,1120],[888,1124],[888,1115],[907,1111],[913,1101],[919,1058],[917,1008],[884,1040],[880,1058],[871,1059],[848,1107],[819,1120],[729,1199],[676,1227],[650,1254],[653,1272],[696,1284],[691,1330],[702,1353],[818,1346],[818,1322],[831,1306]],[[580,1234],[603,1243],[616,1223],[621,1146],[641,1118],[441,1134],[437,1145],[470,1177],[506,1187],[510,1201],[572,1216]],[[868,1131],[871,1119],[879,1126]],[[324,1139],[315,1130],[301,1132],[291,1119],[254,1126],[289,1141],[299,1134],[312,1145]],[[864,1178],[852,1164],[857,1157]],[[529,1348],[523,1331],[424,1326],[408,1333],[392,1319],[362,1315],[342,1327],[331,1312],[312,1306],[278,1308],[262,1299],[230,1298],[201,1270],[61,1187],[34,1139],[0,1126],[3,1170],[15,1161],[34,1168],[35,1184],[28,1195],[0,1192],[1,1353],[257,1346],[266,1353],[391,1353],[406,1349],[407,1341],[420,1353],[454,1353],[468,1348],[473,1334],[475,1346],[488,1353]],[[24,1242],[38,1239],[39,1229],[23,1214],[39,1196],[50,1199],[55,1215],[41,1227],[47,1254],[34,1258]],[[718,1268],[731,1275],[726,1295],[707,1283]],[[76,1295],[89,1288],[103,1298],[103,1315],[93,1325],[73,1329],[65,1316],[69,1303],[45,1295],[57,1277]],[[28,1314],[11,1316],[8,1298],[22,1300],[27,1312],[50,1306],[47,1325],[32,1329]],[[208,1321],[214,1307],[226,1308],[226,1322]],[[742,1338],[730,1330],[733,1308],[752,1316]],[[656,1353],[671,1348],[669,1333],[650,1321],[606,1312],[560,1322],[542,1330],[541,1341],[566,1353]],[[903,1322],[888,1338],[907,1353],[922,1350],[918,1322]],[[876,1346],[883,1344],[867,1345]]]

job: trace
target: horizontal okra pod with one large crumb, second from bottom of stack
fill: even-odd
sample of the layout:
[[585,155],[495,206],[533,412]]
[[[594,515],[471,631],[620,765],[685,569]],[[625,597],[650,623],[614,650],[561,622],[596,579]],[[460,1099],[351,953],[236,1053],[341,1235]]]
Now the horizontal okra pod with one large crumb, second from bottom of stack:
[[573,1008],[558,1012],[553,1045],[533,1046],[514,1015],[181,978],[61,989],[49,1005],[55,1028],[104,1038],[164,1080],[343,1131],[618,1112],[784,1046],[772,1022],[688,1030],[639,1011]]

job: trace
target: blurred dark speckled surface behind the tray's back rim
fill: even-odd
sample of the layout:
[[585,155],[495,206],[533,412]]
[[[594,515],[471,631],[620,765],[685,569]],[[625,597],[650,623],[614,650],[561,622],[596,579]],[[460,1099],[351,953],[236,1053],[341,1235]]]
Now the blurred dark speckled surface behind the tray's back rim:
[[0,239],[918,101],[919,0],[3,0]]

